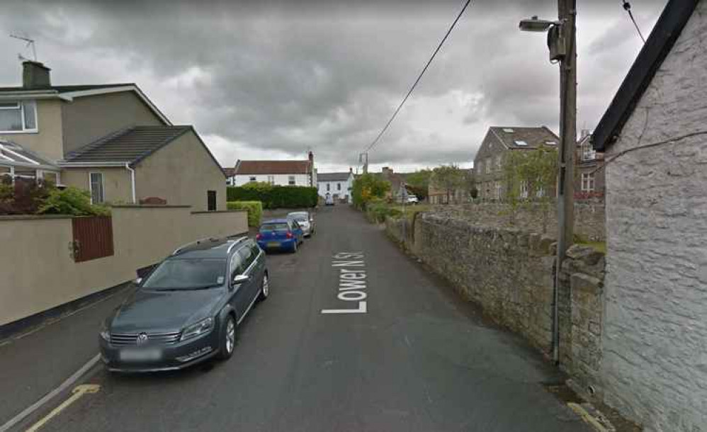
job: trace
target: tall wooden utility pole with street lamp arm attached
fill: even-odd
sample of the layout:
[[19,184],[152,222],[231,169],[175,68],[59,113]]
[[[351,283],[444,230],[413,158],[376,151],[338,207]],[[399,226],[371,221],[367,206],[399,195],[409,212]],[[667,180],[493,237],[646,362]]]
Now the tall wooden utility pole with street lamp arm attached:
[[560,152],[558,154],[558,261],[553,305],[553,360],[560,360],[560,272],[575,231],[574,166],[577,142],[577,0],[558,0],[558,21],[533,16],[519,23],[521,31],[548,32],[550,62],[560,63]]

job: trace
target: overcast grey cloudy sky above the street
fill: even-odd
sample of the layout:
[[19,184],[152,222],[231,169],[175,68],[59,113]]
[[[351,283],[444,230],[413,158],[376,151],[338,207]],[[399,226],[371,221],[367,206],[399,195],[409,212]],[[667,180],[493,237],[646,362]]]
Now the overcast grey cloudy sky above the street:
[[[650,33],[667,0],[633,0]],[[198,4],[198,6],[196,6]],[[463,5],[408,1],[15,1],[0,14],[0,86],[21,83],[6,35],[37,40],[53,84],[135,82],[192,124],[222,166],[304,159],[356,166]],[[642,42],[621,0],[577,0],[578,129],[592,129]],[[558,131],[558,67],[521,33],[555,0],[477,0],[370,155],[371,168],[470,166],[491,125]]]

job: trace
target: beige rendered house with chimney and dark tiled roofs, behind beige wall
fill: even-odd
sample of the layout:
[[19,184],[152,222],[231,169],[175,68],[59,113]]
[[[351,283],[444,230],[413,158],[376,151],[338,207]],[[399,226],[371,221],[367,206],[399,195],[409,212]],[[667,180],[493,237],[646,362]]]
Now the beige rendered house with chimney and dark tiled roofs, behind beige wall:
[[0,175],[84,188],[94,203],[155,197],[225,210],[213,155],[137,85],[53,86],[44,64],[22,65],[22,86],[0,88]]

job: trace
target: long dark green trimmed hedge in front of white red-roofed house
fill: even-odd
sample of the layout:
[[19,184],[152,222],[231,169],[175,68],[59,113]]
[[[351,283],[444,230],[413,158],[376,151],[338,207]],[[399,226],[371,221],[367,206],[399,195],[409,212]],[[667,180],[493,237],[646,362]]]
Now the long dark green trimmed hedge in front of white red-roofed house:
[[260,201],[263,208],[310,208],[317,205],[317,188],[308,186],[230,186],[228,201]]

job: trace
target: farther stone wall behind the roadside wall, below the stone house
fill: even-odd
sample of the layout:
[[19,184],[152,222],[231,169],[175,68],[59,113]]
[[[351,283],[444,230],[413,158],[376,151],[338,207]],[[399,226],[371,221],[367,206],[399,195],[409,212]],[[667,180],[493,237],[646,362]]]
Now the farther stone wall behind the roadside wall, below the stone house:
[[[504,203],[473,203],[434,206],[435,212],[463,218],[475,224],[515,227],[531,232],[555,233],[558,214],[555,203],[524,203],[515,212]],[[604,241],[604,202],[582,200],[575,202],[575,234],[590,241]]]

